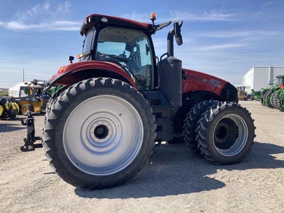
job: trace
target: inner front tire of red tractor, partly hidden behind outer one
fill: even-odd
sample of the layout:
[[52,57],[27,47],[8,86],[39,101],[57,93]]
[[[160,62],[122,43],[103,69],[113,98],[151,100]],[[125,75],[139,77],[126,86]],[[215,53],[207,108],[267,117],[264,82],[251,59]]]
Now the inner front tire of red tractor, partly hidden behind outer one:
[[184,120],[183,130],[184,130],[184,140],[187,146],[193,153],[200,154],[200,149],[197,147],[198,142],[196,140],[196,124],[200,119],[200,115],[206,111],[206,109],[214,104],[219,103],[218,101],[203,101],[192,107],[189,113],[186,115]]

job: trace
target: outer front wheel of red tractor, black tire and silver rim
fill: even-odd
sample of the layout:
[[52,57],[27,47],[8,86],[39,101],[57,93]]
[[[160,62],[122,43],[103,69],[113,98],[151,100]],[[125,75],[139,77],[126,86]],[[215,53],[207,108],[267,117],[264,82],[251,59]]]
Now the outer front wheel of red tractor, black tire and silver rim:
[[215,164],[233,164],[250,152],[255,127],[249,111],[232,102],[208,108],[197,123],[198,147]]

